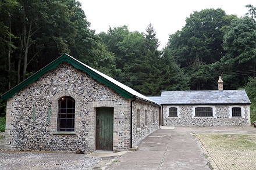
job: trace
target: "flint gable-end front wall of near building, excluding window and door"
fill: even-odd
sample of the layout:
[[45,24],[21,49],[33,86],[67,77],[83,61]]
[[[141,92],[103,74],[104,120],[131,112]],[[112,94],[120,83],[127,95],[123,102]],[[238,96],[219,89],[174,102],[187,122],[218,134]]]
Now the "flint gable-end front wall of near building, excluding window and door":
[[[57,101],[62,96],[76,100],[73,133],[56,132]],[[94,151],[97,107],[114,107],[113,150],[128,149],[130,100],[71,64],[61,63],[8,99],[5,148]]]

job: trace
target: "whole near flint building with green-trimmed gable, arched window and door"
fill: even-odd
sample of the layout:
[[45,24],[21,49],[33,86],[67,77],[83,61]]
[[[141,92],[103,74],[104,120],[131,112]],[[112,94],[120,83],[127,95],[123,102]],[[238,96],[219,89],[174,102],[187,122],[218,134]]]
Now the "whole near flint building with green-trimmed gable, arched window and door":
[[6,150],[122,151],[159,128],[158,103],[66,54],[1,98]]

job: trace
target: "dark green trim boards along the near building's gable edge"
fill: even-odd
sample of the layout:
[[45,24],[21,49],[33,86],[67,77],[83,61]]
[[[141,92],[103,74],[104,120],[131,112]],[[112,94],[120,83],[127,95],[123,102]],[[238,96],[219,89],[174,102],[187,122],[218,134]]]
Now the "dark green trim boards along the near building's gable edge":
[[37,71],[35,74],[31,75],[29,78],[25,79],[23,82],[16,85],[12,89],[10,89],[8,92],[4,93],[1,96],[1,99],[2,100],[9,99],[15,93],[17,93],[21,89],[25,88],[27,85],[37,81],[38,78],[40,78],[42,75],[44,75],[48,71],[50,71],[50,70],[56,68],[57,66],[59,66],[59,64],[62,63],[62,62],[68,62],[68,63],[72,64],[72,66],[74,66],[74,67],[76,67],[80,70],[83,70],[84,72],[89,74],[91,77],[93,77],[97,81],[101,82],[102,84],[105,84],[105,85],[109,86],[109,88],[112,88],[114,91],[118,92],[120,95],[122,95],[126,99],[134,99],[134,95],[132,93],[130,93],[129,91],[126,91],[125,89],[116,85],[115,83],[113,83],[109,79],[107,79],[104,76],[98,74],[96,71],[94,71],[94,69],[91,69],[90,67],[87,67],[85,64],[79,62],[78,60],[74,59],[73,57],[71,57],[67,54],[64,54],[64,55],[58,57],[58,59],[49,63],[47,66],[45,66],[41,70]]

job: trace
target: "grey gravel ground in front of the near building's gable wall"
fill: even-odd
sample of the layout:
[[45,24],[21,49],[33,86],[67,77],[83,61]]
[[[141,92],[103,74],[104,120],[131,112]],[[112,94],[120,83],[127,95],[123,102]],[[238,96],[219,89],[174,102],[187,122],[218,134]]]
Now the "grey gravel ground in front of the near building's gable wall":
[[[3,151],[4,133],[0,132],[0,169],[99,169],[113,157],[86,157],[71,152]],[[104,164],[103,164],[104,165]]]

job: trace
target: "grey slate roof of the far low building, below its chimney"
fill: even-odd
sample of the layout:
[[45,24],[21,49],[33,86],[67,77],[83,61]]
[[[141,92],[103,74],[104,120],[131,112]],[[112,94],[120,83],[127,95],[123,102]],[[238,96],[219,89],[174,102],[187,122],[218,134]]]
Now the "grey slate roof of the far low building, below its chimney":
[[251,104],[245,90],[162,91],[161,99],[148,98],[159,104]]

